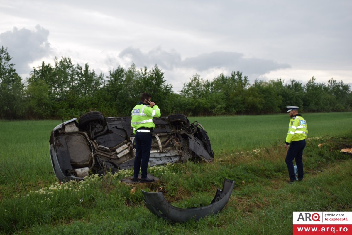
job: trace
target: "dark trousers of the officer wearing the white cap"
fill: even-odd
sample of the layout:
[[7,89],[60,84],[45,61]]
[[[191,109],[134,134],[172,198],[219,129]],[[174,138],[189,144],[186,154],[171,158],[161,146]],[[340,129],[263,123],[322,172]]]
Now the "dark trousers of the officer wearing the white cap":
[[297,178],[298,180],[303,179],[302,156],[303,156],[304,147],[306,147],[306,140],[292,141],[290,144],[290,147],[288,148],[285,162],[287,165],[288,176],[290,177],[290,180],[296,180],[295,170],[292,162],[293,159],[295,159],[296,161],[296,166],[298,171]]

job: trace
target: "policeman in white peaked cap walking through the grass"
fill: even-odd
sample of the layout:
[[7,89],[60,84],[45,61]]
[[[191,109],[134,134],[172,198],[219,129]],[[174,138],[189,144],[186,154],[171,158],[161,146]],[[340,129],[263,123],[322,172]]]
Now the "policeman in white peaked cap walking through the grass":
[[296,161],[298,180],[303,179],[303,149],[306,147],[306,136],[308,134],[308,127],[306,120],[302,115],[298,114],[297,106],[287,106],[288,114],[290,115],[290,122],[288,126],[287,137],[285,141],[285,148],[288,148],[286,155],[286,165],[288,175],[290,177],[289,184],[296,181],[295,170],[293,166],[293,159]]

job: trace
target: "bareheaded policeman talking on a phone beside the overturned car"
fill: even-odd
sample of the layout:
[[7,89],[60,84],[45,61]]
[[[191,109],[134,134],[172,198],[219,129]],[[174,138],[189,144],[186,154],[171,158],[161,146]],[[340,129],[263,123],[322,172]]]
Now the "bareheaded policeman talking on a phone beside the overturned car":
[[147,177],[147,168],[152,145],[152,134],[155,124],[153,117],[160,117],[160,109],[154,102],[150,101],[151,96],[143,93],[140,96],[139,103],[132,110],[131,126],[135,134],[136,157],[134,158],[133,179],[138,181],[139,169],[142,170],[141,183],[151,182],[154,179]]

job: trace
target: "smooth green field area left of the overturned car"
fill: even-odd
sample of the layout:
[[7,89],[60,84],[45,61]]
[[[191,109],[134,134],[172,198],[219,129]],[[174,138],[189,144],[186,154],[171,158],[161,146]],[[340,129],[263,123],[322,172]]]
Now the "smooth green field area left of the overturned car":
[[[0,185],[39,184],[53,180],[49,157],[55,120],[0,121]],[[31,183],[29,183],[31,182]]]

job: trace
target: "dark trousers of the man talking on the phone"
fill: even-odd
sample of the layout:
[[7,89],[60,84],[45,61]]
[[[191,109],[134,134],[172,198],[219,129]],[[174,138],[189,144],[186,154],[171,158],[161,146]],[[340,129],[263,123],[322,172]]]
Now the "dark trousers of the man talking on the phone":
[[138,178],[139,169],[142,170],[142,179],[147,178],[147,168],[152,147],[152,135],[148,132],[136,132],[136,157],[134,158],[133,177]]

